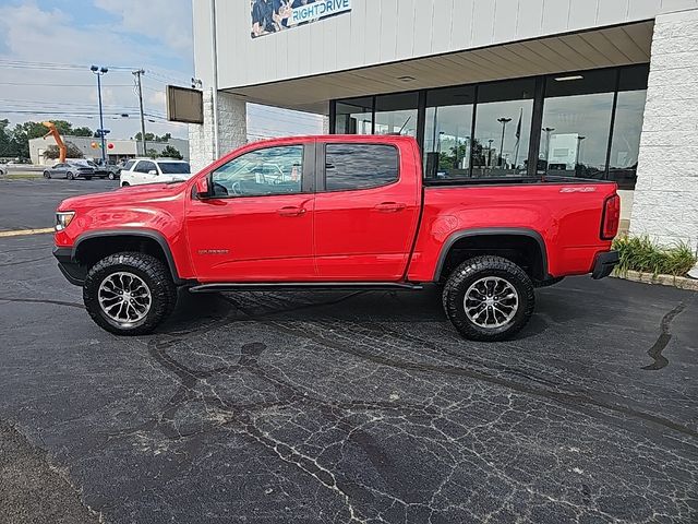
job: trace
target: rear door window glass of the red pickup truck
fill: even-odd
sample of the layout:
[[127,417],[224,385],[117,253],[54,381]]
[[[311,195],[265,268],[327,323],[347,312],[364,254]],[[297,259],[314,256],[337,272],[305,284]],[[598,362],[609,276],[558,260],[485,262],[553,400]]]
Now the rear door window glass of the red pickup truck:
[[325,145],[326,191],[378,188],[397,180],[398,153],[392,145]]

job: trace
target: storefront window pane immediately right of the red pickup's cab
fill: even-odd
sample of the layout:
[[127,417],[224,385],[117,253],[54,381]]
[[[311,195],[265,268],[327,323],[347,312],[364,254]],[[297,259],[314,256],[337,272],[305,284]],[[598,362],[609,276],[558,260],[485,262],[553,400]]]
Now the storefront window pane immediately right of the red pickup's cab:
[[470,176],[474,93],[474,87],[465,86],[426,94],[423,150],[426,178]]

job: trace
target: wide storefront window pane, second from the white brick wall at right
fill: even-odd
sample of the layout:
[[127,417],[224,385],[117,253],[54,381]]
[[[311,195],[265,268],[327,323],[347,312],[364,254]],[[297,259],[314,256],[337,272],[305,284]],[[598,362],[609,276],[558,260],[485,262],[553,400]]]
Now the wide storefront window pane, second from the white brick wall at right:
[[615,70],[546,78],[540,170],[564,177],[605,177],[615,84]]

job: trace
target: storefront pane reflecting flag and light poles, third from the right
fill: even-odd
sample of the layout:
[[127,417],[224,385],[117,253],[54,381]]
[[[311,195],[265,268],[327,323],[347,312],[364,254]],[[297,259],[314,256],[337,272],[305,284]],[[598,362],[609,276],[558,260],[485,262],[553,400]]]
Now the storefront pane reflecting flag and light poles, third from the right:
[[532,79],[478,88],[473,178],[526,175],[534,88]]

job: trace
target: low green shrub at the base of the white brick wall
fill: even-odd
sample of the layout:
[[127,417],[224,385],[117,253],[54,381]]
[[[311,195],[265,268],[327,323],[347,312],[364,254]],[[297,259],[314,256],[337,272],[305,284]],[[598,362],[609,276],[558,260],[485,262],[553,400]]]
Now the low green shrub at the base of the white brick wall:
[[621,263],[616,266],[618,274],[639,271],[653,275],[685,276],[698,262],[690,246],[681,242],[662,247],[646,236],[618,237],[613,241],[613,249],[621,255]]

